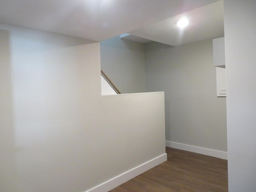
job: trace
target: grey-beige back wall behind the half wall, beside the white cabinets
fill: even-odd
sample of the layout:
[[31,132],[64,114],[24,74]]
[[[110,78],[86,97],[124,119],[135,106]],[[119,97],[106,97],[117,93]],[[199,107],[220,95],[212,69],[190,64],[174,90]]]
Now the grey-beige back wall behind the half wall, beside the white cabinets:
[[167,141],[227,151],[226,98],[216,96],[212,40],[147,43],[146,89],[165,92]]

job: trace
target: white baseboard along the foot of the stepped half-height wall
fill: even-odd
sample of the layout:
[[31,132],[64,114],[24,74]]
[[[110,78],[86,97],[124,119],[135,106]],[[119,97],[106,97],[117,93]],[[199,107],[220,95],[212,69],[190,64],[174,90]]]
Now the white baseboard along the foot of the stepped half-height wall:
[[123,184],[124,182],[146,172],[147,170],[150,170],[151,168],[167,161],[167,154],[162,154],[146,163],[143,163],[135,168],[132,168],[131,170],[128,170],[90,190],[87,190],[86,192],[108,192],[117,186]]

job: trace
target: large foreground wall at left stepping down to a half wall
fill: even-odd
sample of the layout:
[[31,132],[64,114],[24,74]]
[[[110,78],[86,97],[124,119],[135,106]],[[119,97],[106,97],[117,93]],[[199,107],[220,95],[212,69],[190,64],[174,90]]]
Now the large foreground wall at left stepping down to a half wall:
[[99,43],[0,40],[0,191],[83,192],[165,154],[164,94],[101,96]]

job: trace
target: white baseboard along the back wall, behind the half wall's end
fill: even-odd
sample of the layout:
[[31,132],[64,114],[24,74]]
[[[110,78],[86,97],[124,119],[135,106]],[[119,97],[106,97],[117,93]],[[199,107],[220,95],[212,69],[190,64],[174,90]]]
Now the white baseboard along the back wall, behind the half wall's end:
[[221,159],[228,159],[228,153],[224,152],[224,151],[202,148],[202,147],[198,147],[198,146],[187,145],[187,144],[182,144],[182,143],[177,143],[177,142],[172,142],[172,141],[166,141],[165,145],[166,145],[166,147],[190,151],[190,152],[208,155],[208,156],[212,156],[212,157],[217,157],[217,158],[221,158]]

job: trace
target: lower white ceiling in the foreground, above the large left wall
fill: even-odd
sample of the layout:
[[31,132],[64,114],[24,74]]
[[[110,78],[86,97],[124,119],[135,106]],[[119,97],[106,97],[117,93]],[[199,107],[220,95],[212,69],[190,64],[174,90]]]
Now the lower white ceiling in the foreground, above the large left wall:
[[[103,41],[125,32],[163,42],[160,20],[217,0],[0,0],[0,23]],[[200,18],[200,14],[198,15]],[[167,20],[169,20],[167,19]],[[168,22],[166,20],[166,22]],[[174,19],[175,20],[175,19]],[[174,22],[171,20],[171,22]],[[192,21],[192,20],[191,20]],[[164,22],[164,21],[163,21]],[[155,24],[152,24],[155,23]],[[152,25],[150,25],[152,24]],[[196,24],[196,23],[195,23]],[[144,28],[142,28],[144,27]],[[139,30],[136,30],[140,28]],[[193,30],[193,26],[190,27]],[[148,29],[154,29],[152,33]],[[212,28],[212,30],[214,30]],[[195,31],[195,30],[194,30]],[[189,34],[186,32],[186,34]],[[170,39],[170,37],[168,37]],[[168,42],[169,43],[169,42]]]

